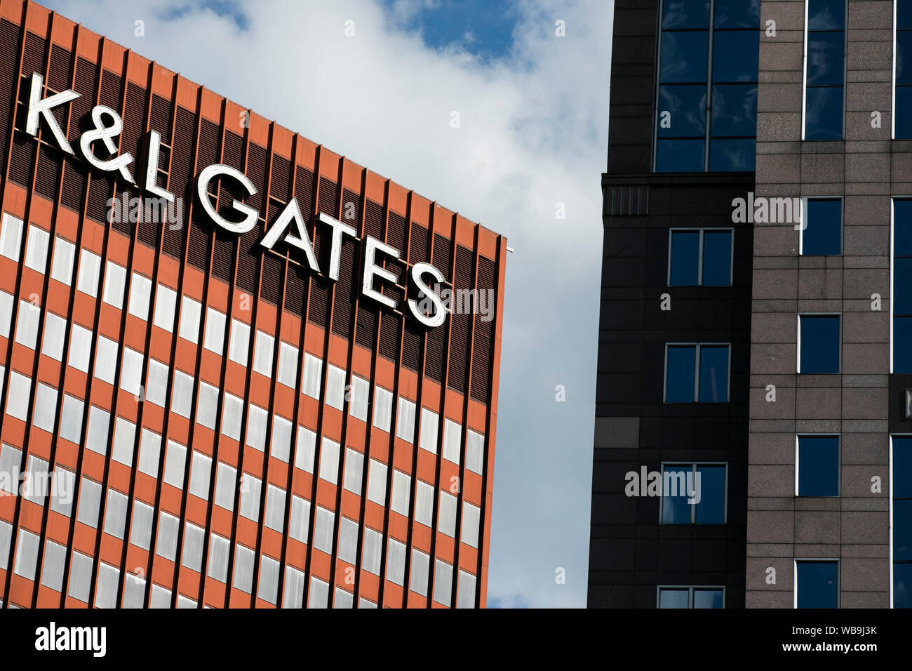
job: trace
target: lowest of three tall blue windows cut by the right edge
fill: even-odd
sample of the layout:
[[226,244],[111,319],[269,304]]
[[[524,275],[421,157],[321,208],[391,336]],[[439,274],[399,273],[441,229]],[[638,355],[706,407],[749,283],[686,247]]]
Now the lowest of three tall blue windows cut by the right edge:
[[893,498],[893,603],[912,608],[912,436],[890,438],[890,494]]

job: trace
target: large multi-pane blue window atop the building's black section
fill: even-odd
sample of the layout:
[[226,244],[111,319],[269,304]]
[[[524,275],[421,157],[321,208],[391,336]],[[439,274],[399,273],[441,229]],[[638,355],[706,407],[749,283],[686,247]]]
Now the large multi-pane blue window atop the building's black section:
[[754,169],[759,28],[759,0],[662,3],[656,172]]

